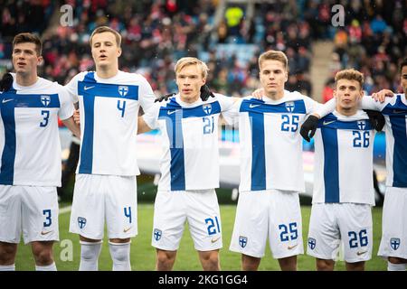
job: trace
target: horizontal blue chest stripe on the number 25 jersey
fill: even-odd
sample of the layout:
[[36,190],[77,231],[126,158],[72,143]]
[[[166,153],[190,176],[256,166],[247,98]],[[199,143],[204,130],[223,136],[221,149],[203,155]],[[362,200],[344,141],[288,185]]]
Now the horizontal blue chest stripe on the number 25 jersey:
[[251,98],[243,99],[240,112],[306,114],[307,110],[304,100],[287,101],[274,105],[257,98]]

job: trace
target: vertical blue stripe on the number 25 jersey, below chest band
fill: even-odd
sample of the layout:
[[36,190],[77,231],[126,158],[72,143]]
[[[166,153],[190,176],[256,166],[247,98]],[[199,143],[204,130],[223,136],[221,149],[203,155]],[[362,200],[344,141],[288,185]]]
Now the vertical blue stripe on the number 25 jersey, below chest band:
[[264,115],[249,112],[249,119],[251,121],[251,191],[266,190]]

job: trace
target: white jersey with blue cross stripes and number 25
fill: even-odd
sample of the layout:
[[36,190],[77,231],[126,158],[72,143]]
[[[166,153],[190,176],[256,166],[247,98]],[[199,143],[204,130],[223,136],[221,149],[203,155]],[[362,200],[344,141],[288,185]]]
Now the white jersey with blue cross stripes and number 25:
[[228,113],[225,119],[232,123],[239,116],[240,191],[305,191],[299,128],[319,106],[288,90],[277,101],[247,97],[233,106],[234,115]]

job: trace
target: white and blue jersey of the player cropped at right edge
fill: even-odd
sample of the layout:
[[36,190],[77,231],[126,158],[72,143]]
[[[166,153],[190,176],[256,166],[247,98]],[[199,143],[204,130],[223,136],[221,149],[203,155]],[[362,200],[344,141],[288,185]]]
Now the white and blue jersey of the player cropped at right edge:
[[386,98],[383,103],[362,98],[361,107],[382,112],[386,135],[386,185],[407,188],[407,99],[404,94]]

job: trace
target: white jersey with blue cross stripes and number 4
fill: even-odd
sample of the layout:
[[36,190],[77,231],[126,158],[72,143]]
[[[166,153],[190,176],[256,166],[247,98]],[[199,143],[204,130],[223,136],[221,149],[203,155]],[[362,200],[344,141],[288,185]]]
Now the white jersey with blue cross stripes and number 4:
[[80,72],[66,88],[80,105],[80,160],[77,173],[130,176],[137,165],[137,117],[156,99],[147,79],[118,71],[110,79]]

